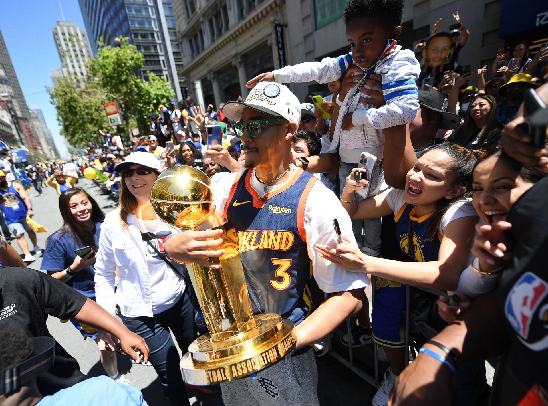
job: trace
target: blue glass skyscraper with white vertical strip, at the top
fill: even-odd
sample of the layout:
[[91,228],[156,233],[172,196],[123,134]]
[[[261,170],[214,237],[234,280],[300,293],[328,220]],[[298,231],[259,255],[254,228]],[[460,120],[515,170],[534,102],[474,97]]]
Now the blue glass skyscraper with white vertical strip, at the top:
[[92,52],[99,39],[115,46],[116,37],[129,37],[145,57],[141,76],[147,71],[169,80],[176,98],[186,96],[181,48],[176,38],[175,18],[170,0],[78,0],[86,30],[92,38]]

